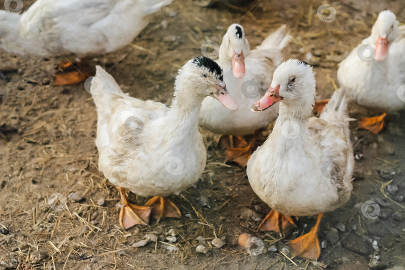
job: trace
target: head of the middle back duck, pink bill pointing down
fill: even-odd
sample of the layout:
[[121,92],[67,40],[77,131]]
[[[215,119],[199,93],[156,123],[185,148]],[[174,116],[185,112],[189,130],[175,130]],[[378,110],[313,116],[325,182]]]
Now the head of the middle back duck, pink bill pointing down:
[[246,72],[244,57],[249,53],[249,42],[244,37],[242,25],[233,23],[228,27],[219,47],[221,63],[230,64],[232,62],[233,75],[242,78]]

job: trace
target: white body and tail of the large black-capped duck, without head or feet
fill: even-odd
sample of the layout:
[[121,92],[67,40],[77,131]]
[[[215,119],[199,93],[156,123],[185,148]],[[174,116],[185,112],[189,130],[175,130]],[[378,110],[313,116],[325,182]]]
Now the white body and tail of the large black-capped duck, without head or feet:
[[100,66],[96,70],[103,90],[93,91],[95,142],[105,177],[141,196],[178,194],[197,181],[206,160],[197,115],[179,119],[174,108],[130,97]]

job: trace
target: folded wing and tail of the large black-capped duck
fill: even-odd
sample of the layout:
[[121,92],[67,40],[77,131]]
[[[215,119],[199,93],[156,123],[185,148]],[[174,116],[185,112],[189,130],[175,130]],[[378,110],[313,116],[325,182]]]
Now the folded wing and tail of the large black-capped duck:
[[113,77],[100,66],[96,66],[90,91],[98,116],[96,145],[100,152],[107,148],[120,156],[136,150],[144,144],[144,139],[148,139],[148,132],[155,130],[154,120],[168,111],[162,103],[124,94]]

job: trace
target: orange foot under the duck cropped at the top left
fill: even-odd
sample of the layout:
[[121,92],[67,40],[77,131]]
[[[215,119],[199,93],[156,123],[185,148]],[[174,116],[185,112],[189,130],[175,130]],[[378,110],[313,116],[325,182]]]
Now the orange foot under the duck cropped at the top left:
[[55,82],[53,84],[66,85],[84,81],[90,76],[84,66],[84,60],[74,63],[69,60],[63,61],[58,67],[58,69],[62,71],[55,74]]

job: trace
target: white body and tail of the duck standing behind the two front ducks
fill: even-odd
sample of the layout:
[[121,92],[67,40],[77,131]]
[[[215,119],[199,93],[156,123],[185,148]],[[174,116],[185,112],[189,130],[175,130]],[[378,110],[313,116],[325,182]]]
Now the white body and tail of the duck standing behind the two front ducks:
[[[244,135],[273,121],[277,117],[278,105],[261,114],[251,113],[250,106],[268,89],[272,72],[281,61],[281,50],[290,38],[286,25],[267,36],[261,45],[245,56],[246,73],[241,79],[233,75],[230,59],[218,60],[224,69],[226,87],[239,109],[230,111],[213,98],[206,97],[202,102],[199,124],[214,133]],[[219,53],[224,51],[220,49]]]

